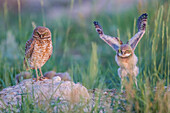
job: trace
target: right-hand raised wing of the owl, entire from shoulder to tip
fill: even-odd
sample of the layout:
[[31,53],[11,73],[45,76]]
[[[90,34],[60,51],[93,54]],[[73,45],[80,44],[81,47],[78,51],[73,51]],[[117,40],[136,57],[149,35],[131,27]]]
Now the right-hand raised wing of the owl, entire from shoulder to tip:
[[145,34],[146,23],[147,23],[147,13],[142,14],[137,21],[138,32],[127,42],[133,50],[135,50],[139,41]]

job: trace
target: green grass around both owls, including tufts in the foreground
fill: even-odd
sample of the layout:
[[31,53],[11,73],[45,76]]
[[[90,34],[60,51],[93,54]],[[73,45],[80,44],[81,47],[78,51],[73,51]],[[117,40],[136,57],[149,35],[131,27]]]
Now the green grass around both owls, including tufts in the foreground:
[[[52,22],[48,22],[45,17],[43,0],[41,0],[40,14],[36,17],[30,17],[29,13],[21,13],[20,0],[17,1],[18,12],[15,14],[9,11],[7,3],[8,1],[5,0],[3,9],[0,10],[0,89],[15,85],[15,75],[24,71],[22,63],[25,42],[31,37],[33,30],[31,23],[34,22],[36,25],[46,25],[52,32],[54,52],[42,68],[44,73],[50,70],[68,71],[74,82],[80,82],[88,89],[116,88],[120,90],[118,66],[114,60],[115,52],[99,39],[93,21],[99,21],[106,34],[119,36],[123,42],[126,42],[137,31],[138,16],[147,12],[146,33],[135,50],[139,59],[137,64],[140,70],[137,76],[139,90],[133,87],[131,80],[126,81],[125,100],[128,104],[124,112],[168,112],[169,92],[164,89],[164,86],[169,86],[170,83],[168,1],[151,0],[141,7],[139,2],[138,6],[120,13],[103,11],[96,14],[94,11],[89,17],[79,21],[75,21],[71,18],[72,15],[68,15]],[[95,7],[95,2],[93,4]],[[74,0],[70,3],[70,10],[73,7]],[[13,42],[10,42],[12,38],[10,32],[14,36]],[[35,75],[33,70],[32,72]],[[157,87],[156,92],[155,87]],[[43,109],[43,105],[33,106],[33,100],[28,98],[26,100],[22,102],[20,108],[23,112],[52,111],[53,106]],[[55,102],[54,105],[58,105],[57,103],[59,102]],[[99,102],[96,106],[98,104]],[[96,106],[92,111],[99,111],[100,108]],[[113,112],[117,111],[116,106],[120,107],[115,105]],[[77,105],[68,112],[82,112],[84,107]]]

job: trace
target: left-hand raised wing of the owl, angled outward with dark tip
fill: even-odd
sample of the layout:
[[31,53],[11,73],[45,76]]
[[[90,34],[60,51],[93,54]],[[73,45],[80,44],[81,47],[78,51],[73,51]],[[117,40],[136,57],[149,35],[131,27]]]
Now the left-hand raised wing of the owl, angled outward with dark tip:
[[98,22],[94,21],[94,26],[96,28],[96,31],[98,32],[100,38],[105,41],[109,46],[111,46],[115,51],[119,50],[120,45],[122,45],[122,41],[117,37],[111,37],[108,35],[105,35],[103,32],[102,27],[99,25]]

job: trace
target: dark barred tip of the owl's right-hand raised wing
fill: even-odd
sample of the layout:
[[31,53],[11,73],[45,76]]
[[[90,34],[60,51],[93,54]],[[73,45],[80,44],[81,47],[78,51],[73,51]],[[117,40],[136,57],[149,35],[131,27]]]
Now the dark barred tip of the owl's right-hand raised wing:
[[147,22],[148,14],[142,14],[137,20],[138,31],[146,29],[146,22]]

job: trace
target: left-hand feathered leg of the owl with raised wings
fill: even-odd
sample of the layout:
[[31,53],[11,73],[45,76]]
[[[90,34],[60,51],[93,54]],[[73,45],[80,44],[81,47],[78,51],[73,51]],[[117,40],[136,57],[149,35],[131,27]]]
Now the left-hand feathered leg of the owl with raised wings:
[[123,68],[119,68],[118,69],[118,75],[119,77],[121,78],[121,92],[123,92],[123,80],[124,80],[124,77],[127,76],[127,72],[125,69]]

